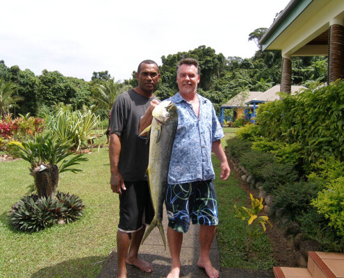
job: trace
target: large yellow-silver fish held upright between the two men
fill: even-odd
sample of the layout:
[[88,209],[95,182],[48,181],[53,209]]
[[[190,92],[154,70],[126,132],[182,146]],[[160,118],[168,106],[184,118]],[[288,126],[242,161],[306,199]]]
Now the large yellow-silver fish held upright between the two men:
[[151,193],[151,202],[154,207],[154,218],[145,232],[142,243],[154,227],[157,226],[160,231],[161,238],[163,238],[163,244],[166,250],[166,238],[162,223],[163,202],[165,199],[172,145],[178,125],[177,107],[172,101],[162,101],[154,108],[152,115],[153,120],[151,122],[151,126],[148,126],[148,128],[145,129],[145,131],[142,131],[142,133],[145,133],[150,129],[147,176]]

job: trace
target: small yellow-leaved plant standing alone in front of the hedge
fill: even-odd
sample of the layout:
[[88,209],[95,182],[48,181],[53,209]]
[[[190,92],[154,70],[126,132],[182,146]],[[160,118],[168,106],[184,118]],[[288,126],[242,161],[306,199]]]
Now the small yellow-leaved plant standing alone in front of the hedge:
[[[244,229],[245,229],[245,240],[246,240],[246,259],[249,258],[249,248],[251,246],[252,240],[259,238],[266,230],[265,224],[268,223],[272,227],[272,224],[269,222],[268,216],[258,216],[259,211],[262,210],[263,206],[263,197],[261,199],[256,199],[249,193],[251,197],[251,207],[246,208],[241,206],[240,208],[234,205],[236,209],[236,218],[243,220]],[[247,220],[248,219],[248,220]],[[259,226],[259,224],[261,226]],[[257,227],[258,226],[258,227]]]

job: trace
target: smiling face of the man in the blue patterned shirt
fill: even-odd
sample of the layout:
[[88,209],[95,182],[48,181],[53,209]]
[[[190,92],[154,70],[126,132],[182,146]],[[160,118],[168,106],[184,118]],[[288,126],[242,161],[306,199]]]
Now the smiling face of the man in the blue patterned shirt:
[[195,65],[181,65],[177,72],[177,83],[179,92],[182,95],[197,92],[197,85],[199,83],[197,67]]

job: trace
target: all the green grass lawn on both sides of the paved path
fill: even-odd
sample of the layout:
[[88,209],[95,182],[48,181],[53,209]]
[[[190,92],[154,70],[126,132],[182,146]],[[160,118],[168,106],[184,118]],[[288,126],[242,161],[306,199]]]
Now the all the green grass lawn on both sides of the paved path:
[[[235,129],[225,128],[225,140]],[[108,149],[86,154],[83,172],[61,174],[58,190],[76,194],[86,206],[85,215],[71,224],[56,225],[34,234],[15,231],[8,223],[8,211],[28,191],[33,178],[26,161],[0,163],[0,277],[97,277],[109,252],[115,248],[118,197],[110,190]],[[219,176],[219,164],[213,160]],[[243,261],[243,234],[234,218],[233,205],[245,204],[247,196],[234,174],[227,181],[215,180],[220,224],[218,243],[221,263],[227,267],[270,268],[270,245],[266,238],[254,247],[254,260]],[[265,252],[263,252],[263,249]]]

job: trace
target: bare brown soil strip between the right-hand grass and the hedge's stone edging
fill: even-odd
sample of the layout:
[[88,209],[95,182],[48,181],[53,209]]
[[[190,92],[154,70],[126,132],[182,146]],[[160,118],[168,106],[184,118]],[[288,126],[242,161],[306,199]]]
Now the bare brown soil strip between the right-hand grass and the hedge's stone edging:
[[[252,190],[248,183],[245,183],[240,175],[234,171],[234,165],[229,163],[229,166],[231,167],[231,174],[235,174],[236,178],[239,181],[239,186],[245,190],[245,193],[247,195],[247,206],[251,205],[251,199],[249,197],[249,193],[252,193],[254,197],[258,198],[259,191],[258,190]],[[265,215],[265,214],[262,214]],[[272,227],[270,225],[266,225],[266,235],[270,239],[270,243],[272,245],[272,251],[273,255],[276,261],[277,266],[288,266],[288,267],[297,267],[296,261],[295,261],[295,250],[288,246],[287,240],[284,237],[284,234],[277,228],[277,225],[274,223],[274,221],[269,218],[269,221],[272,224]]]

